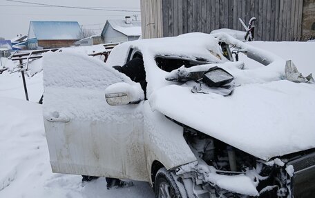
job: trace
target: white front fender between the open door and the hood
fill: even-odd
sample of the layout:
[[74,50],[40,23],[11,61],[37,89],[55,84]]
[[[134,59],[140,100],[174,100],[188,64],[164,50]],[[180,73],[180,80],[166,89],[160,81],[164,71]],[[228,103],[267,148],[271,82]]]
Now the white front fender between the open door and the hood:
[[[184,139],[182,126],[153,112],[149,102],[144,102],[144,150],[149,175],[153,161],[159,161],[167,170],[197,161]],[[150,181],[152,184],[152,178]]]

